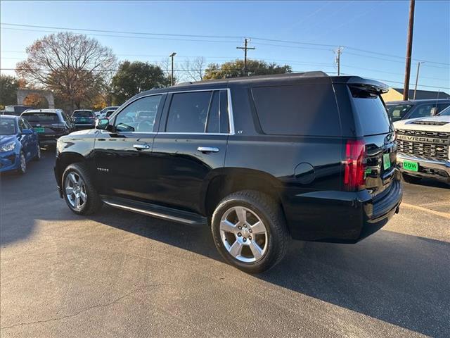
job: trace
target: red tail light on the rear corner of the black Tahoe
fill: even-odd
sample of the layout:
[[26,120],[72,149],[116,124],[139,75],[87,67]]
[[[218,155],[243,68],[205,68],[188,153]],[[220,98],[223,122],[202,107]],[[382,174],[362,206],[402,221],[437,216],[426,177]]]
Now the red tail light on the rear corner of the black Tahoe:
[[361,139],[349,139],[345,145],[344,187],[349,192],[364,188],[366,144]]

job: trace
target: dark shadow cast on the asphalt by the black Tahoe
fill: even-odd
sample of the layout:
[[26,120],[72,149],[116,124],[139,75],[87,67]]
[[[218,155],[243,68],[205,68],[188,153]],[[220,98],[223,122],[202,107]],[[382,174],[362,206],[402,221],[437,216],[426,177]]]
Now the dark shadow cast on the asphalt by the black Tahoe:
[[[110,207],[91,218],[223,261],[208,227]],[[380,230],[359,244],[293,241],[285,259],[255,277],[432,337],[449,337],[450,244]]]

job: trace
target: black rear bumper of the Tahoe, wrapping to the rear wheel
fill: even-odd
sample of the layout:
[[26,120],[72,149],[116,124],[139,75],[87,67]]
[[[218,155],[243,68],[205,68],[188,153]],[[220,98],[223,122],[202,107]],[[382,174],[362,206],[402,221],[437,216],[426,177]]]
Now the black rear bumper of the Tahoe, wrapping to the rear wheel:
[[399,212],[403,189],[400,173],[373,198],[361,192],[309,192],[283,201],[293,239],[356,243],[383,227]]

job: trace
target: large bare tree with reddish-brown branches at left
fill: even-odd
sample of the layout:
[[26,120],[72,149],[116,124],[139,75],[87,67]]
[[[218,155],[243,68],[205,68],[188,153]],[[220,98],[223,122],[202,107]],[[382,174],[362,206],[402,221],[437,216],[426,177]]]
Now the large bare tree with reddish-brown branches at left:
[[117,64],[110,48],[71,32],[38,39],[26,51],[27,60],[16,67],[18,75],[35,87],[51,90],[72,109],[90,104]]

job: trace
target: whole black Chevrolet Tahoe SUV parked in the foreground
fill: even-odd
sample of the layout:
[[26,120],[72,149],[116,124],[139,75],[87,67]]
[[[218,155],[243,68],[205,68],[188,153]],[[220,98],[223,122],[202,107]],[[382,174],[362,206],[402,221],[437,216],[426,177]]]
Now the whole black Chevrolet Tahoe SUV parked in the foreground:
[[104,203],[209,224],[249,273],[280,261],[290,237],[358,242],[402,197],[386,90],[313,72],[143,92],[58,140],[60,196],[78,214]]

